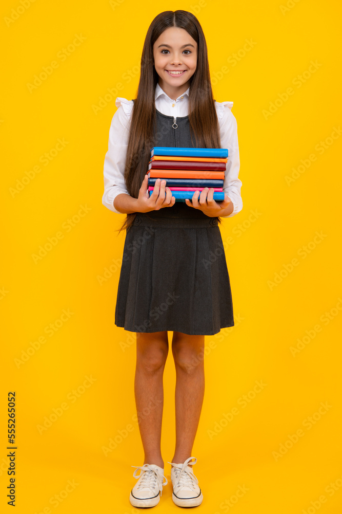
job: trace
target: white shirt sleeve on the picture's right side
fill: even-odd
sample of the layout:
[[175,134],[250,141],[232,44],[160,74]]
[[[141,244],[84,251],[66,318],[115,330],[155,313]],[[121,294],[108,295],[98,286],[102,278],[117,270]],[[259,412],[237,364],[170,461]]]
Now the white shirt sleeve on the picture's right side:
[[241,198],[242,181],[238,178],[240,169],[240,157],[237,140],[237,123],[235,116],[231,112],[233,102],[224,103],[224,111],[222,119],[220,120],[220,136],[221,148],[228,148],[228,162],[226,166],[225,179],[223,183],[223,190],[228,194],[232,200],[234,209],[228,216],[229,218],[235,216],[243,208],[243,201]]

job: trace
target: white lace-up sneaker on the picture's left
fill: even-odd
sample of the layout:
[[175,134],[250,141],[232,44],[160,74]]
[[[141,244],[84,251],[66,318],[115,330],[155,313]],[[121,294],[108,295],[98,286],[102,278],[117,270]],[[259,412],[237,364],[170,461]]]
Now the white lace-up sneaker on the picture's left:
[[[131,505],[134,507],[154,507],[159,503],[163,486],[168,483],[166,476],[164,476],[164,468],[160,468],[156,464],[144,464],[143,466],[132,466],[132,468],[137,468],[134,470],[133,476],[138,481],[129,496]],[[138,469],[141,469],[141,471],[136,476]],[[164,483],[163,478],[166,480]]]

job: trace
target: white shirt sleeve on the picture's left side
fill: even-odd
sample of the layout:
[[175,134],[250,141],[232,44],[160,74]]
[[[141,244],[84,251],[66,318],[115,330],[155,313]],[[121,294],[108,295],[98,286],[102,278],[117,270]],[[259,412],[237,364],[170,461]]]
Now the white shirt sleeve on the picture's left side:
[[125,164],[129,136],[129,119],[121,104],[115,112],[110,129],[108,140],[108,152],[104,163],[104,185],[105,191],[102,203],[109,210],[122,214],[114,207],[114,198],[120,193],[129,194],[125,183]]

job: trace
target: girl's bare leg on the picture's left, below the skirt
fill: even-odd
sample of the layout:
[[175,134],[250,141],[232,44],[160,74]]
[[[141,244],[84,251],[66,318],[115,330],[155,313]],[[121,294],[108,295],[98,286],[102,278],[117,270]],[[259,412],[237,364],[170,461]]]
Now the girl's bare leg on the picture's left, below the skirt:
[[160,448],[164,406],[163,373],[169,352],[168,333],[136,334],[134,393],[144,464],[164,468]]

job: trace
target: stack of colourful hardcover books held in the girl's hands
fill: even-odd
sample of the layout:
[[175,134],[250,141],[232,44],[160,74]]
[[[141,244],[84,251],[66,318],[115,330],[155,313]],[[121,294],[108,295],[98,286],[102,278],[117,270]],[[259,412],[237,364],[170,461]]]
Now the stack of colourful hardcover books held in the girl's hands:
[[176,201],[192,199],[195,191],[214,188],[214,200],[224,200],[228,148],[185,148],[153,146],[148,166],[150,195],[157,178],[166,180]]

